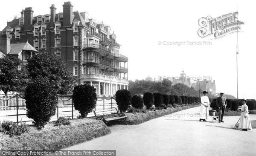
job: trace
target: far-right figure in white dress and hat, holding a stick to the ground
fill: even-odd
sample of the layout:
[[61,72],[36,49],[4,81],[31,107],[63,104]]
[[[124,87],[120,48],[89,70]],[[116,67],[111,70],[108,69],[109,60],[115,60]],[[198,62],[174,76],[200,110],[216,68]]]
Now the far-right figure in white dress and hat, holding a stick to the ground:
[[241,107],[241,117],[240,117],[240,122],[238,128],[240,130],[252,130],[252,125],[250,123],[250,116],[249,116],[249,111],[248,111],[248,106],[246,105],[247,100],[241,99],[242,100],[242,107]]

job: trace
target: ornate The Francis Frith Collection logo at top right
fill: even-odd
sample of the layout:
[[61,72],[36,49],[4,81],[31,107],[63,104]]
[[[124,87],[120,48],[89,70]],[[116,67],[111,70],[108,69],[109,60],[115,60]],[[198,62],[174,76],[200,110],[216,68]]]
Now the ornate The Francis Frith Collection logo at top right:
[[238,20],[238,12],[224,14],[222,16],[212,18],[211,16],[202,17],[198,20],[198,36],[205,38],[213,35],[214,38],[222,38],[233,32],[241,31],[241,22]]

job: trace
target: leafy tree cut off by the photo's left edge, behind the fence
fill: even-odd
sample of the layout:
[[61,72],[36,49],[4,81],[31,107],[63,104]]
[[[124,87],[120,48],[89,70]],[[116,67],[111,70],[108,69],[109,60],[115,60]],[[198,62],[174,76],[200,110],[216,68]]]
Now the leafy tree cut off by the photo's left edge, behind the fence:
[[5,55],[0,58],[0,90],[23,92],[28,82],[28,72],[19,58]]

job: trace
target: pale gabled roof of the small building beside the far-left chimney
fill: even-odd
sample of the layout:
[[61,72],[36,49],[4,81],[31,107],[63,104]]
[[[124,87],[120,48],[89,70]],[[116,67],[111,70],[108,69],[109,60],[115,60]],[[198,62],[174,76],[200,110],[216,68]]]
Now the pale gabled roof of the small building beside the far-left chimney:
[[9,54],[19,54],[23,50],[38,52],[33,46],[31,46],[28,42],[26,42],[26,43],[12,43],[11,51],[9,52]]

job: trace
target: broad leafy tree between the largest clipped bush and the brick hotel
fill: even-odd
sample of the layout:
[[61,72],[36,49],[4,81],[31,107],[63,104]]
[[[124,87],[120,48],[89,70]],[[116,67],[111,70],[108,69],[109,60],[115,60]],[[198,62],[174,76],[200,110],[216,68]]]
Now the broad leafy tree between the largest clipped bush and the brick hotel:
[[34,55],[27,60],[29,78],[47,77],[58,94],[67,94],[75,86],[76,78],[61,58],[49,53]]

